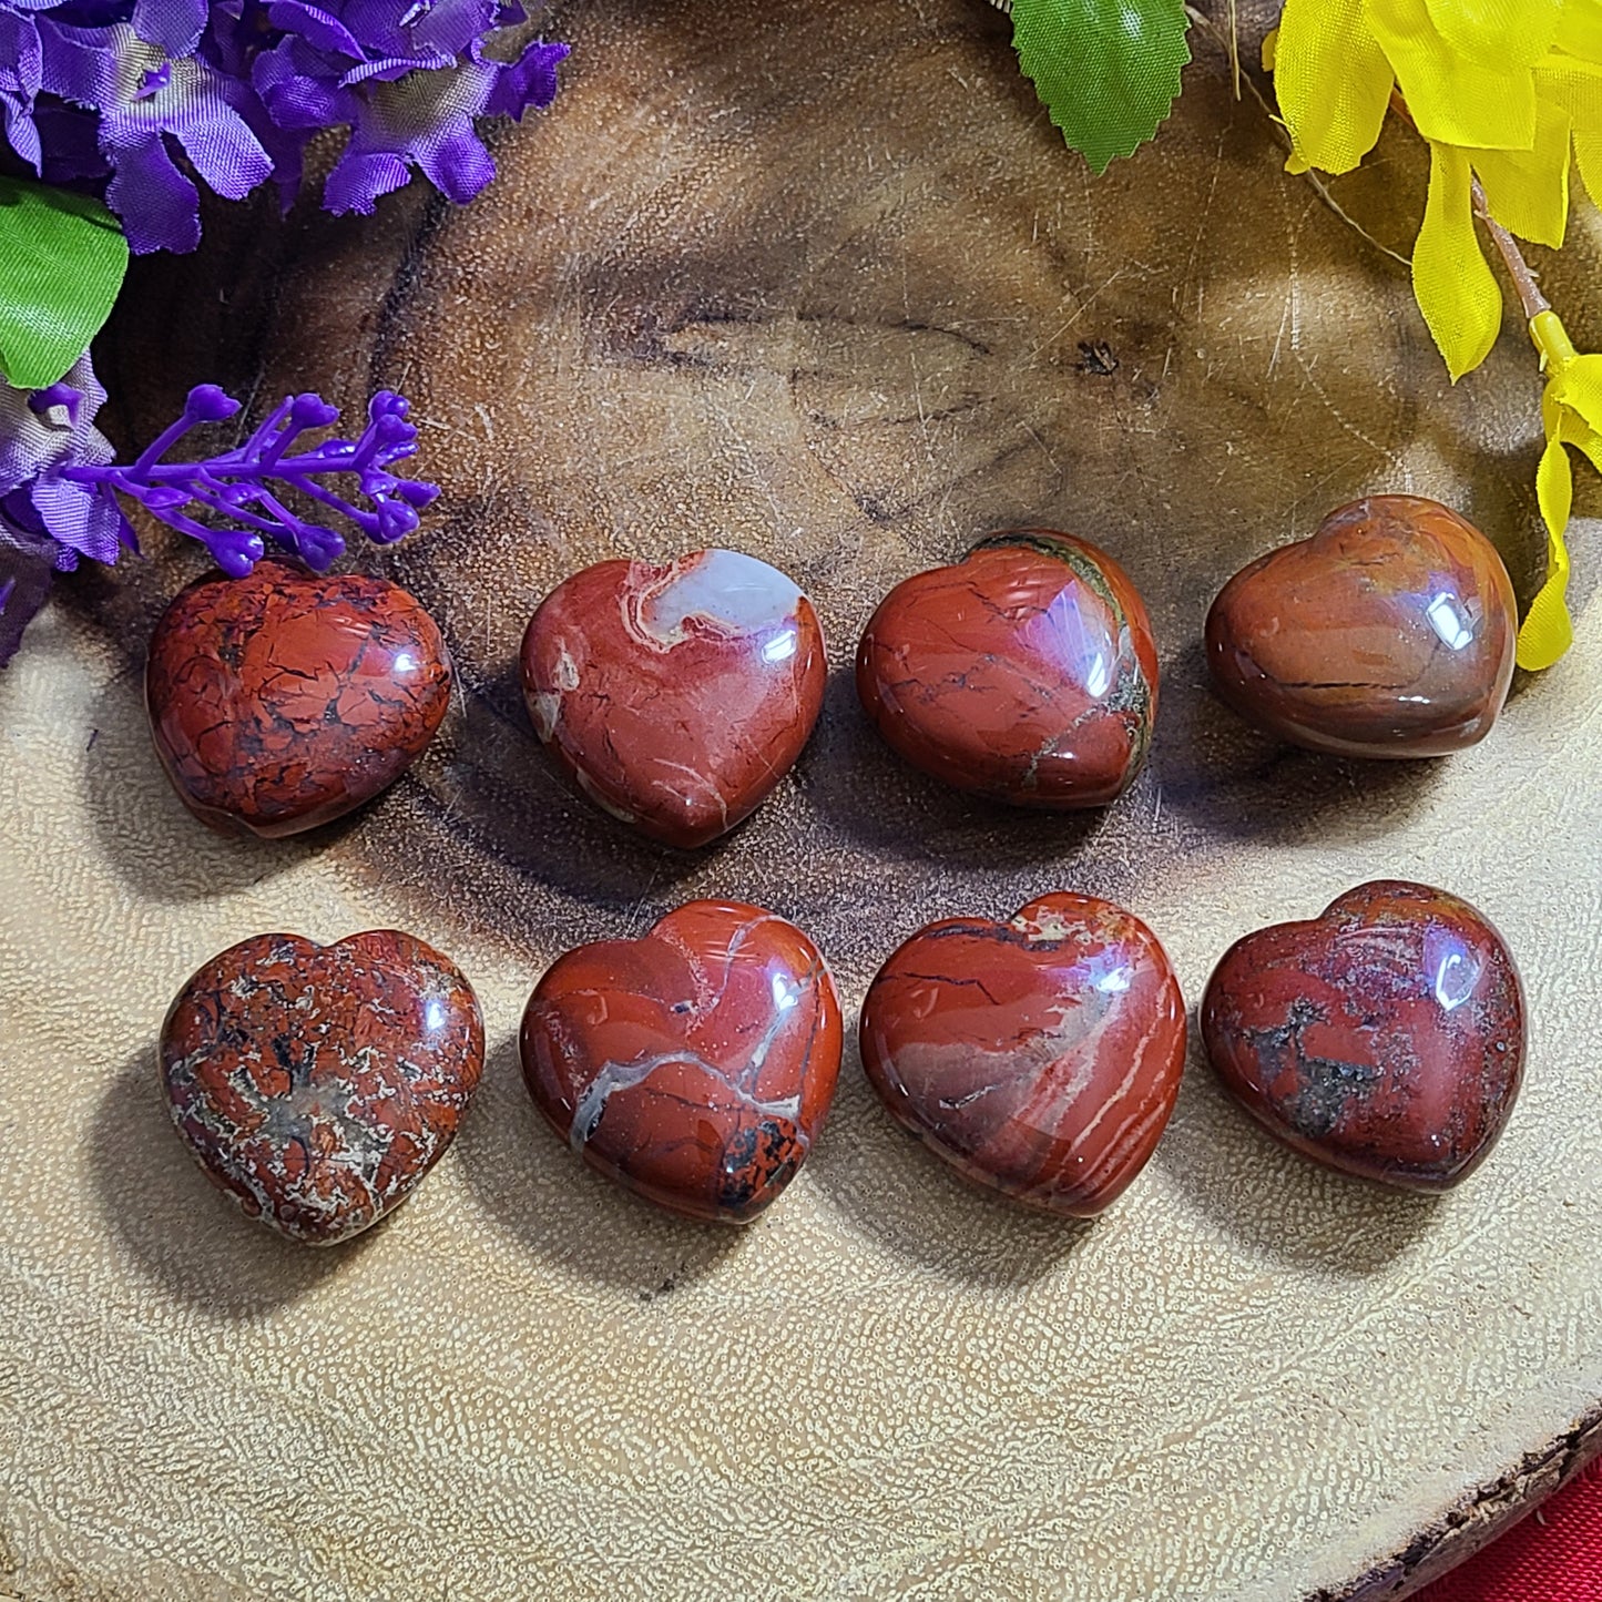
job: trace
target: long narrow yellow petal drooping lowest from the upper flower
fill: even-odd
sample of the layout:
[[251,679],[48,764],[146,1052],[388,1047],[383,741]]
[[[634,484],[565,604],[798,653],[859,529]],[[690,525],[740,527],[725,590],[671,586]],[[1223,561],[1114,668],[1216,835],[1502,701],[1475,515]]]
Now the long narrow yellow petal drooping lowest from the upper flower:
[[1429,147],[1429,199],[1413,247],[1413,295],[1456,383],[1496,343],[1501,290],[1474,234],[1469,159],[1448,144]]

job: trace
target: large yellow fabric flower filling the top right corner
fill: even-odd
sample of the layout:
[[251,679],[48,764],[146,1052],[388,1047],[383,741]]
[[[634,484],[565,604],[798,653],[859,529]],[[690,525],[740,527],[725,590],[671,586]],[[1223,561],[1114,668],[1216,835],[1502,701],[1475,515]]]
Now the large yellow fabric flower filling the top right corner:
[[1274,83],[1291,171],[1350,171],[1400,91],[1431,151],[1413,293],[1453,381],[1472,372],[1501,327],[1474,179],[1498,223],[1554,248],[1570,157],[1602,194],[1602,0],[1286,0]]

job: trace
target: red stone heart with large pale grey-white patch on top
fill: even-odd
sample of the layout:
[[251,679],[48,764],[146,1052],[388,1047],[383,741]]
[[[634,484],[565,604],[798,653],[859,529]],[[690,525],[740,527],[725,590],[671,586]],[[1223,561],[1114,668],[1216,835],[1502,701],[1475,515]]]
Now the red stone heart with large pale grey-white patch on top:
[[801,755],[828,663],[812,602],[739,551],[598,562],[553,590],[522,642],[535,732],[598,806],[705,846]]

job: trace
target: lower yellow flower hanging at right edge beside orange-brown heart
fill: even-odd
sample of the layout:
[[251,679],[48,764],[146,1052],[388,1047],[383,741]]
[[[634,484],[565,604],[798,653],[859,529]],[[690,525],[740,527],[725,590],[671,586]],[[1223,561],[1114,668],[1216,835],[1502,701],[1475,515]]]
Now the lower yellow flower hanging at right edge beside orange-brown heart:
[[1568,548],[1564,533],[1573,505],[1575,481],[1568,445],[1583,450],[1602,471],[1602,356],[1575,352],[1557,312],[1543,311],[1530,320],[1530,338],[1546,368],[1541,423],[1546,450],[1535,474],[1535,495],[1546,524],[1546,583],[1530,602],[1519,630],[1519,666],[1549,668],[1573,642],[1568,617]]

